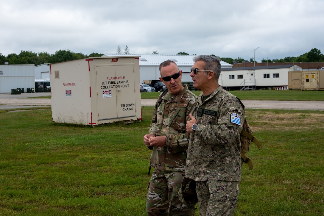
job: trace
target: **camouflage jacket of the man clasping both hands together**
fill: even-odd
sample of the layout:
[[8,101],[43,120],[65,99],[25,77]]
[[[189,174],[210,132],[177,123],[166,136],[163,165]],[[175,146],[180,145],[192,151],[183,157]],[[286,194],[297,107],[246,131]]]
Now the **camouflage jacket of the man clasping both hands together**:
[[162,171],[184,171],[188,149],[189,133],[186,132],[186,123],[190,120],[189,113],[193,112],[197,96],[183,85],[182,91],[171,97],[168,92],[157,99],[150,134],[166,136],[166,145],[156,148],[154,146],[150,165]]

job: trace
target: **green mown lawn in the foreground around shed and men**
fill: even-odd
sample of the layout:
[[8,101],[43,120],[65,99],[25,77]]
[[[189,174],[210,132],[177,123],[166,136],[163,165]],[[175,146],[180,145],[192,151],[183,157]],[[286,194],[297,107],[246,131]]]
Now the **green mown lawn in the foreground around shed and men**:
[[[0,113],[0,215],[146,215],[152,111],[96,127],[53,123],[50,108]],[[246,118],[262,149],[250,147],[235,215],[323,215],[324,111]]]

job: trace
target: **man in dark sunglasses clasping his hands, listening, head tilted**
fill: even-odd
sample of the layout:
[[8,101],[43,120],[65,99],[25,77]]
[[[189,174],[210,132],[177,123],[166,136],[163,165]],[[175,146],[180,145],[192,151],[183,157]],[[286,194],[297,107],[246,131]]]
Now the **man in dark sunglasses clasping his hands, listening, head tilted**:
[[153,147],[150,166],[154,167],[148,186],[146,212],[158,216],[194,215],[194,206],[182,204],[178,191],[187,158],[189,133],[186,132],[186,122],[193,112],[197,96],[181,84],[182,71],[176,63],[165,61],[159,70],[160,80],[168,88],[168,93],[161,93],[158,97],[150,133],[144,136],[145,145]]

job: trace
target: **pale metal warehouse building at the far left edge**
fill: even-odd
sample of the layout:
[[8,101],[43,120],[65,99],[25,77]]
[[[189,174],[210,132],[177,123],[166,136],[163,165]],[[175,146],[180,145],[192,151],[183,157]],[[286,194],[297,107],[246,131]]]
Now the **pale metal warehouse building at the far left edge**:
[[0,65],[0,93],[10,93],[11,89],[35,87],[34,64]]

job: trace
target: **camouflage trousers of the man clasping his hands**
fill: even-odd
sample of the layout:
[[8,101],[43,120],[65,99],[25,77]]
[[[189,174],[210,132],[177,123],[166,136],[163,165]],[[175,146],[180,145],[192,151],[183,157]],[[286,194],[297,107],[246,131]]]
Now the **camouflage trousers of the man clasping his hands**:
[[195,214],[195,206],[184,205],[178,198],[183,177],[184,172],[154,169],[148,185],[147,215],[192,216]]

